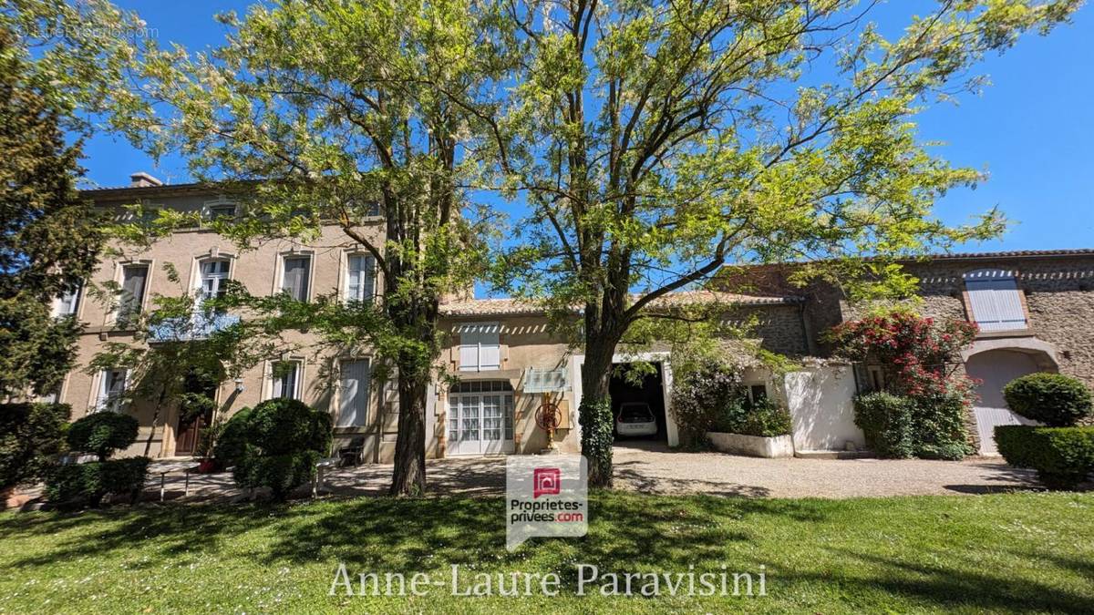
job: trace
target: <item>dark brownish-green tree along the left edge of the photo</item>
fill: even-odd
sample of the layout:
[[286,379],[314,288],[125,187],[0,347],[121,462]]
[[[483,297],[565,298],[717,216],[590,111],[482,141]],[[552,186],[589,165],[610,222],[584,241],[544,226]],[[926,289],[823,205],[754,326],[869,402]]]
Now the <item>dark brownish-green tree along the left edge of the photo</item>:
[[53,302],[94,268],[104,234],[75,182],[81,139],[116,128],[140,96],[127,69],[143,23],[105,0],[0,3],[0,395],[55,392],[73,318]]

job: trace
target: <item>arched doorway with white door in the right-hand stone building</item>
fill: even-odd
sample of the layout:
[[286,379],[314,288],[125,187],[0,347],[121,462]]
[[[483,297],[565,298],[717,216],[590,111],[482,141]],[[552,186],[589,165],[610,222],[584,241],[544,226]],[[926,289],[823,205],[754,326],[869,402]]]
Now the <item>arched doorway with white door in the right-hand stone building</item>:
[[999,425],[1029,425],[1033,421],[1020,417],[1006,408],[1003,386],[1010,381],[1040,371],[1056,371],[1056,364],[1044,352],[1019,349],[997,349],[973,355],[965,361],[969,376],[982,382],[977,387],[980,399],[973,413],[980,436],[980,454],[998,455],[994,429]]

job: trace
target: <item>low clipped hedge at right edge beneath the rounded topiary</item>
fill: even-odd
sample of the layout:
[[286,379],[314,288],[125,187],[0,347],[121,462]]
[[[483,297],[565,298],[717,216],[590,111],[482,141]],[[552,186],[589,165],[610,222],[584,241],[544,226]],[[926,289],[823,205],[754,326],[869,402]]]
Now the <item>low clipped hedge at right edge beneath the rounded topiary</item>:
[[1094,427],[1003,425],[996,445],[1006,463],[1036,469],[1054,489],[1072,489],[1094,472]]

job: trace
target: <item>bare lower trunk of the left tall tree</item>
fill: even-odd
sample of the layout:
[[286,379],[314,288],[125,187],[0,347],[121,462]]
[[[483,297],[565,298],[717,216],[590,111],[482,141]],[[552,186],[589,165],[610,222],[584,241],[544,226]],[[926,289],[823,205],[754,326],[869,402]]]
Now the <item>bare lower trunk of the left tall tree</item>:
[[395,473],[391,495],[420,496],[426,492],[426,395],[428,382],[398,376],[399,423],[395,441]]

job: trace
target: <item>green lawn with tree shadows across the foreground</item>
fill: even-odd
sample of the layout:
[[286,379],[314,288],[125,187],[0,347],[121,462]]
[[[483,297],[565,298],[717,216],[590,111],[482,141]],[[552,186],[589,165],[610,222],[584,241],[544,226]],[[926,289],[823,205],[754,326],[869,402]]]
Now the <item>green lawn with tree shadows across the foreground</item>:
[[[0,515],[0,612],[1094,612],[1094,495],[592,497],[590,535],[505,552],[500,498]],[[560,595],[327,595],[360,572],[557,572]],[[767,596],[578,596],[601,572],[753,572]],[[594,588],[594,585],[590,585]],[[341,588],[340,588],[341,589]],[[595,590],[594,590],[595,591]],[[635,589],[636,593],[638,588]]]

